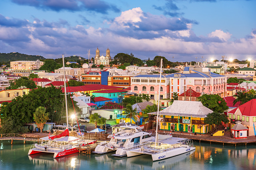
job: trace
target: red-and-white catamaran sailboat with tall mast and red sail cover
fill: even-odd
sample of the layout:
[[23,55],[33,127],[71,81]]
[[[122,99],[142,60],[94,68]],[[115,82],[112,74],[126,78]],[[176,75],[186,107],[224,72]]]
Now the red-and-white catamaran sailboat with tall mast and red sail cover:
[[[64,65],[64,56],[62,55],[63,61],[63,70],[64,70],[64,80],[65,77],[65,65]],[[46,137],[40,138],[41,142],[32,144],[29,149],[28,155],[36,153],[54,153],[53,158],[67,156],[73,153],[78,153],[79,150],[77,147],[85,146],[89,144],[96,143],[97,140],[87,140],[83,137],[69,136],[69,120],[68,120],[68,103],[67,103],[67,89],[66,83],[65,87],[65,103],[66,103],[66,115],[67,115],[67,129],[59,135],[49,135]]]

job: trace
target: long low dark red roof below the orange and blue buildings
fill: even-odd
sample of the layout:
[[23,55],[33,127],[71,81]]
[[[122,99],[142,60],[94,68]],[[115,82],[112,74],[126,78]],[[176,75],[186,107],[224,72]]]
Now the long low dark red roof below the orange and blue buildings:
[[[79,92],[79,91],[98,91],[98,90],[110,90],[110,89],[121,89],[122,87],[107,86],[102,84],[89,84],[84,86],[67,87],[67,92]],[[64,87],[61,88],[64,91]]]

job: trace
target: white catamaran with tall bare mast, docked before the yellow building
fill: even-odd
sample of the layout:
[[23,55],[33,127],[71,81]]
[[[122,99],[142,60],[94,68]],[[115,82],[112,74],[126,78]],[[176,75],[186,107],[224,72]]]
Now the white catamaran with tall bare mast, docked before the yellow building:
[[153,161],[166,159],[169,157],[177,156],[186,152],[195,150],[193,140],[179,137],[172,137],[172,135],[160,135],[158,134],[158,122],[159,122],[159,104],[160,104],[160,88],[162,77],[162,64],[160,69],[160,81],[159,81],[159,95],[158,95],[158,110],[157,110],[157,125],[156,125],[156,138],[155,141],[151,140],[143,145],[140,145],[131,150],[127,150],[127,157],[137,156],[141,154],[150,154]]

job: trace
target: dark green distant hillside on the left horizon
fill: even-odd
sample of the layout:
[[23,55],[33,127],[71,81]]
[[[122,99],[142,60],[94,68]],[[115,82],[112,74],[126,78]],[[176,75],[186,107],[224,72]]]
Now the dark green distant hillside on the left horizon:
[[42,56],[27,55],[21,53],[0,53],[0,62],[17,61],[17,60],[40,60],[45,59]]

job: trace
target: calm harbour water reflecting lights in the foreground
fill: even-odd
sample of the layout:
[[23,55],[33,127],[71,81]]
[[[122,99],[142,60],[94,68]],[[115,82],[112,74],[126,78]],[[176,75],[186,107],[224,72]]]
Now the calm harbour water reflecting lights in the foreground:
[[161,161],[150,155],[115,158],[112,153],[72,154],[53,159],[53,154],[28,156],[33,142],[0,140],[0,169],[256,169],[256,146],[233,146],[195,142],[196,150]]

